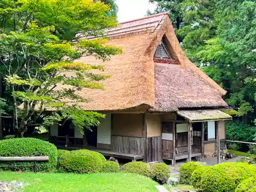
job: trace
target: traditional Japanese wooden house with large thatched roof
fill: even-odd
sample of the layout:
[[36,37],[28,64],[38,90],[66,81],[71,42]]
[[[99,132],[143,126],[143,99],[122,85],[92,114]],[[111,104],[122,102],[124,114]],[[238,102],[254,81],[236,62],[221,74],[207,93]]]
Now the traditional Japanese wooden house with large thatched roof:
[[51,140],[105,156],[173,164],[224,147],[225,120],[231,118],[221,111],[226,92],[186,57],[167,13],[121,23],[106,37],[122,47],[122,55],[78,60],[103,65],[111,76],[102,81],[105,90],[79,93],[92,100],[81,103],[84,110],[106,117],[84,135],[70,124],[53,125]]

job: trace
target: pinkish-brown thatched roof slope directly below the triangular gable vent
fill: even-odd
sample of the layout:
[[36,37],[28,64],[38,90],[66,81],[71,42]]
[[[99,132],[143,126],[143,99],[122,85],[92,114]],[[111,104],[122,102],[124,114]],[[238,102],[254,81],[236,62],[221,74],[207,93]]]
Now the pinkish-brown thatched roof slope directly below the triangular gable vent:
[[170,112],[182,108],[227,106],[219,92],[179,65],[155,63],[155,107],[153,111]]

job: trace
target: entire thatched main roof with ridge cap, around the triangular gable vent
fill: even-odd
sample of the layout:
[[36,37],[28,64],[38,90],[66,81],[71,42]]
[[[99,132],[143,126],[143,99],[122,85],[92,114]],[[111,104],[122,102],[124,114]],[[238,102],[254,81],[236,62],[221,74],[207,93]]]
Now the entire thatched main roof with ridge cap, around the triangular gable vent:
[[[180,65],[154,63],[163,35],[172,58]],[[105,90],[84,89],[79,94],[90,102],[80,103],[94,111],[177,111],[178,108],[226,106],[226,92],[189,61],[182,51],[167,13],[121,23],[106,32],[109,45],[122,47],[123,54],[102,62],[82,57],[78,62],[103,65]],[[179,67],[178,67],[179,66]],[[178,79],[177,79],[178,78]]]

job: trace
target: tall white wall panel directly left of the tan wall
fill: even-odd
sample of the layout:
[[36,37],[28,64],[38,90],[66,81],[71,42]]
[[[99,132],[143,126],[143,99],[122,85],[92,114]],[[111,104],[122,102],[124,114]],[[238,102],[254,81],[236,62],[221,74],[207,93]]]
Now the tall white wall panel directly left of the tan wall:
[[97,143],[111,144],[111,114],[105,114],[104,119],[100,119],[97,130]]

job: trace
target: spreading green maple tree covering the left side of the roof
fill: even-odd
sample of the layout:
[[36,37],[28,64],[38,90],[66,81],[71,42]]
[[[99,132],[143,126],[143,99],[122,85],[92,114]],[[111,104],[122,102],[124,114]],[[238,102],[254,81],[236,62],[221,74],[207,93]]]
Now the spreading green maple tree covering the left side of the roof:
[[[108,60],[121,53],[106,46],[106,39],[87,40],[116,26],[109,5],[90,0],[4,1],[0,9],[0,62],[7,90],[11,91],[14,129],[19,137],[29,126],[51,125],[72,119],[81,132],[83,126],[99,123],[97,112],[82,111],[79,96],[84,88],[103,89],[99,82],[108,76],[102,66],[75,62],[81,56]],[[56,90],[57,84],[61,89]],[[23,103],[19,110],[19,103]],[[46,113],[45,111],[52,111]]]

